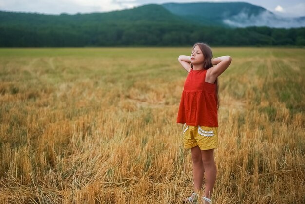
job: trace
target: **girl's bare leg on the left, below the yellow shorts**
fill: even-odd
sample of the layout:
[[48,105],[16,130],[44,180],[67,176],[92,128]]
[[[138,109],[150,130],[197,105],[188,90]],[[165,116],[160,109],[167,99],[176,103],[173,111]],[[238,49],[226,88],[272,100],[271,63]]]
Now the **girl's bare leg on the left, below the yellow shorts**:
[[204,165],[202,153],[198,146],[191,148],[191,159],[193,162],[193,179],[195,191],[199,192],[202,189]]

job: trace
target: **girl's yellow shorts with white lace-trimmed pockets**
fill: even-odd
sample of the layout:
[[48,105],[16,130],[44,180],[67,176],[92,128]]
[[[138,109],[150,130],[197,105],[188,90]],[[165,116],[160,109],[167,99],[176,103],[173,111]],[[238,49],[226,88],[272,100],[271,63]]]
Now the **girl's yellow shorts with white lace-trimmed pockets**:
[[215,149],[218,147],[218,127],[183,126],[184,148],[199,146],[201,150]]

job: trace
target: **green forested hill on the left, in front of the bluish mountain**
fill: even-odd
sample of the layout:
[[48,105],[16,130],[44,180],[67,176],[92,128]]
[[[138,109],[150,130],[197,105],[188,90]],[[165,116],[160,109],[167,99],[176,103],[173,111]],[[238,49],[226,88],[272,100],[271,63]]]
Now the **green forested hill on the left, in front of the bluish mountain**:
[[126,23],[181,23],[182,17],[172,14],[160,5],[145,5],[133,9],[108,13],[44,15],[38,13],[0,12],[0,25],[54,26],[84,24]]

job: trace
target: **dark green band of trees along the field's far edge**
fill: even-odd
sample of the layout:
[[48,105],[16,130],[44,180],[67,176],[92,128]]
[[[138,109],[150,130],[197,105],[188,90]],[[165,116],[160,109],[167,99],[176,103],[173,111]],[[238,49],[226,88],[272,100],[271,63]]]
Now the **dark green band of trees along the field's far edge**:
[[168,22],[0,25],[0,47],[305,46],[305,27],[224,28]]

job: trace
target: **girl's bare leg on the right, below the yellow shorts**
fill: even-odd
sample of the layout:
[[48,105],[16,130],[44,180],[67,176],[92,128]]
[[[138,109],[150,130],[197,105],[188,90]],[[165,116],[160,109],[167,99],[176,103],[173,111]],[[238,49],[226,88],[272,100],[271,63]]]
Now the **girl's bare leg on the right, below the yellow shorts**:
[[214,149],[201,150],[202,163],[205,167],[206,175],[206,189],[204,196],[211,198],[213,193],[214,184],[216,181],[216,164],[214,161]]

